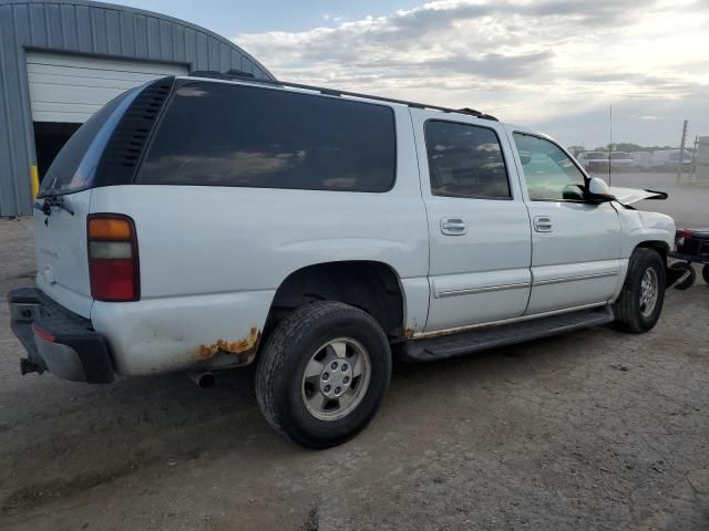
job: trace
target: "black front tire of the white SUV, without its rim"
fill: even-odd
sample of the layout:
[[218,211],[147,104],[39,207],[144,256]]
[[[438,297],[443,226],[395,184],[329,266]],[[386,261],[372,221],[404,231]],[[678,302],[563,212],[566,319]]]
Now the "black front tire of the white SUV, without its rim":
[[[657,279],[657,299],[651,312],[644,314],[644,306],[640,303],[641,283],[648,269],[653,269]],[[662,312],[666,283],[665,263],[656,251],[653,249],[633,251],[623,290],[613,306],[616,316],[615,326],[636,334],[653,330]]]

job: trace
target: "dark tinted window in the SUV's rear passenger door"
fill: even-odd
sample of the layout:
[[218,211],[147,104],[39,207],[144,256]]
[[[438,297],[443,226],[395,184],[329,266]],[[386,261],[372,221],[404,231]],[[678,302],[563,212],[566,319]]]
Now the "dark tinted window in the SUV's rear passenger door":
[[475,125],[430,121],[425,147],[431,194],[476,199],[510,199],[510,181],[494,131]]

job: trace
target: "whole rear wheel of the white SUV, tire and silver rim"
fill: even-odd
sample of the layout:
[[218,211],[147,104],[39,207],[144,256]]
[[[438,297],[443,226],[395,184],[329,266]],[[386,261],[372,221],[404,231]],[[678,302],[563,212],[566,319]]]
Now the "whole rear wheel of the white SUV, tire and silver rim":
[[353,437],[373,418],[389,387],[391,352],[368,313],[315,302],[285,317],[256,371],[256,396],[268,423],[308,448]]

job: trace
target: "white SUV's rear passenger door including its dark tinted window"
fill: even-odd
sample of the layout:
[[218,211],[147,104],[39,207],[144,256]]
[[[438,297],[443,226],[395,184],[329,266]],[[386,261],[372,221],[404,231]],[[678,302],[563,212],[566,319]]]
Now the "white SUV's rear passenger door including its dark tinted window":
[[497,122],[411,110],[430,239],[425,331],[524,313],[530,218]]

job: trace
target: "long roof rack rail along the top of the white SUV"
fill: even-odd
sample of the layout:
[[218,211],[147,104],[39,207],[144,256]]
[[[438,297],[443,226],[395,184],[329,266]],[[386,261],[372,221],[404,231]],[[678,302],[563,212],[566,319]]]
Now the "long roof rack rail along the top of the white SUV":
[[266,85],[273,88],[280,88],[280,90],[298,90],[298,91],[305,90],[305,91],[317,92],[326,96],[339,96],[339,97],[347,96],[347,97],[356,97],[361,100],[369,100],[378,103],[383,102],[383,103],[390,103],[390,104],[405,105],[405,106],[415,107],[415,108],[431,108],[431,110],[442,111],[444,113],[456,113],[456,114],[473,116],[475,118],[499,122],[496,117],[490,114],[482,113],[480,111],[475,111],[474,108],[470,108],[470,107],[449,108],[449,107],[442,107],[440,105],[429,105],[424,103],[409,102],[405,100],[395,100],[393,97],[373,96],[371,94],[360,94],[360,93],[350,92],[350,91],[325,88],[321,86],[305,85],[301,83],[290,83],[285,81],[275,81],[275,80],[260,80],[260,79],[254,77],[253,74],[249,74],[247,72],[234,71],[234,70],[230,70],[226,73],[213,72],[213,71],[196,71],[191,73],[188,76],[181,76],[181,79],[191,79],[191,80],[204,79],[208,81],[236,83],[236,84],[248,84],[248,85],[254,84],[259,86]]

